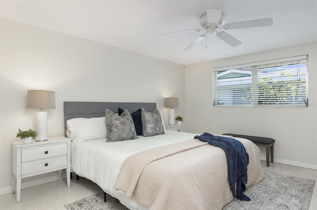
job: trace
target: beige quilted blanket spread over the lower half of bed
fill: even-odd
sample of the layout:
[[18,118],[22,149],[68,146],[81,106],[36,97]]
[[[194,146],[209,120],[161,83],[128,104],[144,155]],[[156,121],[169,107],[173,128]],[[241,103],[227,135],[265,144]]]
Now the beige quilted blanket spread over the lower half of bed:
[[[264,178],[259,148],[240,140],[248,154],[248,185]],[[232,199],[221,148],[198,139],[137,153],[123,163],[117,191],[150,210],[221,210]]]

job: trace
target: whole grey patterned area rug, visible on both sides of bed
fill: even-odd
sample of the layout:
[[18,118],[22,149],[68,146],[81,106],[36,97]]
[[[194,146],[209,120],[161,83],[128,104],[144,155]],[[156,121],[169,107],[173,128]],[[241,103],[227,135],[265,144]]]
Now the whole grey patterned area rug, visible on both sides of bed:
[[[223,210],[308,210],[315,181],[264,170],[264,180],[249,187],[251,201],[233,200]],[[66,210],[128,210],[104,193],[65,205]]]

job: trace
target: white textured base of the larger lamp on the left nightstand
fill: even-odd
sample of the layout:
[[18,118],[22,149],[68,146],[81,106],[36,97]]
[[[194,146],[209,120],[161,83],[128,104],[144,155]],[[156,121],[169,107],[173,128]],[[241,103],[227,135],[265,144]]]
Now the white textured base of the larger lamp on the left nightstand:
[[36,131],[38,135],[35,141],[47,141],[48,140],[48,113],[36,112],[35,113]]

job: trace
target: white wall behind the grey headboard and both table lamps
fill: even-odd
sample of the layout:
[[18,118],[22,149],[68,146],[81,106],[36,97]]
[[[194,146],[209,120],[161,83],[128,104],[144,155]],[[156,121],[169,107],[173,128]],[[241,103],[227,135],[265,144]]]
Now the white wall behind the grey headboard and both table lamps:
[[64,135],[63,101],[156,102],[167,122],[164,100],[173,96],[180,103],[176,115],[185,117],[184,66],[2,18],[0,81],[2,193],[11,190],[18,128],[35,128],[37,110],[26,109],[28,89],[55,91],[49,137]]

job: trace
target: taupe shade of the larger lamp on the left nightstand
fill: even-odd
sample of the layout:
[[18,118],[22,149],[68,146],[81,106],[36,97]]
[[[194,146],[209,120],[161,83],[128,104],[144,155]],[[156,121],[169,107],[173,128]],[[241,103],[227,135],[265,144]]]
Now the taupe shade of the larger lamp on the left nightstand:
[[55,109],[55,92],[28,90],[26,108]]

